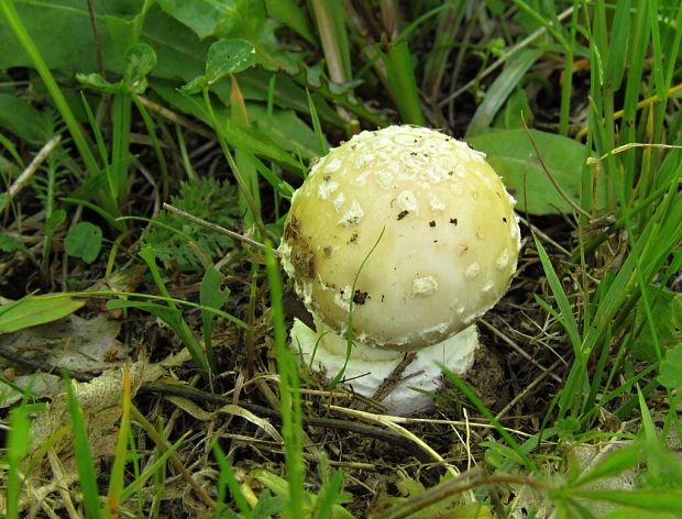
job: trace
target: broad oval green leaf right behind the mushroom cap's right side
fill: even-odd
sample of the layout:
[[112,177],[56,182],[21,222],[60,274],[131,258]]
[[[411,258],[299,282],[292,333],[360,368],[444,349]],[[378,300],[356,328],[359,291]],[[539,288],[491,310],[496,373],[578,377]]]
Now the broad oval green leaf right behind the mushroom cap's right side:
[[[491,166],[518,200],[517,210],[530,214],[572,212],[571,206],[554,187],[538,159],[530,137],[538,145],[549,174],[565,196],[580,203],[585,146],[572,139],[539,130],[493,131],[466,137],[477,151],[487,155]],[[597,208],[604,207],[604,176],[597,185]]]

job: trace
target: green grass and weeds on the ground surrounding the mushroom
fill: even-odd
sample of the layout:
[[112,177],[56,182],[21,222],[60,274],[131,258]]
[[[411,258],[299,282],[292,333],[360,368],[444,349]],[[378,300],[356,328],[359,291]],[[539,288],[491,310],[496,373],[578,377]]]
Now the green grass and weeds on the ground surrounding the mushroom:
[[[679,2],[131,5],[0,3],[4,517],[680,515]],[[479,379],[409,418],[297,366],[273,250],[310,161],[398,122],[475,142],[524,221]],[[184,184],[264,247],[157,219]],[[128,358],[41,349],[105,311]]]

